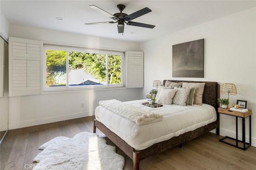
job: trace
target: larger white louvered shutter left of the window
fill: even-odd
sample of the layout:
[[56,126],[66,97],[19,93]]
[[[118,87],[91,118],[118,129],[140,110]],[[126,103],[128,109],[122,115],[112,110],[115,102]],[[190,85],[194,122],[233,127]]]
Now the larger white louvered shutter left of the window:
[[42,41],[9,37],[9,96],[42,93]]

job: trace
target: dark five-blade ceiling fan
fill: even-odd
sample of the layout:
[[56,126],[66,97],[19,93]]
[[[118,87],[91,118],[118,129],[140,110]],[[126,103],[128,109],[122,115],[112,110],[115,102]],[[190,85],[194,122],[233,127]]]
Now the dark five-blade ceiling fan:
[[90,5],[89,7],[98,12],[101,12],[102,14],[108,16],[109,18],[111,18],[114,21],[85,23],[85,25],[94,25],[94,24],[102,24],[102,23],[117,23],[118,33],[124,33],[124,23],[126,23],[126,25],[145,27],[145,28],[154,28],[155,27],[155,25],[131,21],[131,20],[134,20],[135,18],[138,18],[140,16],[143,16],[144,14],[151,12],[151,10],[147,7],[143,8],[141,10],[138,10],[137,12],[134,12],[130,15],[122,13],[122,11],[125,8],[125,5],[122,5],[122,4],[118,4],[116,6],[120,10],[120,12],[116,13],[114,15],[102,10],[101,8],[99,8],[98,6],[95,6],[95,5]]

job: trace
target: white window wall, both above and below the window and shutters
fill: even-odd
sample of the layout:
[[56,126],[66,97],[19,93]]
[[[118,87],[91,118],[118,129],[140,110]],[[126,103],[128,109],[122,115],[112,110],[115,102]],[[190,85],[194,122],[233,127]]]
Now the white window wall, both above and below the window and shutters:
[[[138,51],[139,44],[11,25],[10,37],[35,39],[56,45],[71,45],[115,51]],[[141,88],[118,88],[108,90],[80,90],[42,95],[10,97],[9,129],[28,127],[55,121],[94,115],[100,100],[117,99],[120,101],[137,100]],[[81,103],[84,107],[81,108]]]

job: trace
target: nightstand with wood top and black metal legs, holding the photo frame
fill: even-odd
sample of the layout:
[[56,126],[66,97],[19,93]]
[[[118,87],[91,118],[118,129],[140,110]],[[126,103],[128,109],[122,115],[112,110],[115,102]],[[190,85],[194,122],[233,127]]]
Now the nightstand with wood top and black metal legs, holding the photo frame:
[[[239,149],[243,149],[243,150],[246,150],[248,147],[250,147],[251,144],[252,144],[252,128],[251,128],[252,110],[248,109],[248,111],[246,111],[246,112],[240,112],[240,111],[232,111],[232,110],[229,110],[228,108],[223,109],[223,108],[219,107],[218,108],[218,113],[231,115],[231,116],[236,116],[236,139],[234,139],[232,137],[225,136],[222,139],[220,139],[219,141],[223,142],[223,143],[226,143],[228,145],[232,145],[232,146],[237,147]],[[242,141],[238,140],[238,127],[237,127],[237,118],[238,117],[242,117]],[[247,143],[246,140],[245,140],[245,118],[246,117],[249,117],[249,131],[250,131],[249,132],[250,133],[250,142],[249,143]],[[236,141],[236,145],[224,141],[224,139],[226,139],[226,138]],[[238,142],[242,143],[243,147],[239,147]]]

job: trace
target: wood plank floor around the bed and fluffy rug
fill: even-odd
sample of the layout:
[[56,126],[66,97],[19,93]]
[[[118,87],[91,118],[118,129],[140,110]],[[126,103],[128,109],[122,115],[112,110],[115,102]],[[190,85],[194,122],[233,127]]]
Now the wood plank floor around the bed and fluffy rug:
[[[94,117],[82,117],[8,131],[0,145],[1,170],[32,170],[32,159],[41,150],[38,148],[58,136],[74,137],[82,131],[92,132]],[[103,135],[98,129],[96,133]],[[201,169],[256,169],[256,148],[246,151],[218,141],[221,136],[207,133],[140,162],[141,170],[201,170]],[[109,145],[114,145],[106,139]],[[124,170],[132,170],[132,160],[120,149],[125,158]]]

